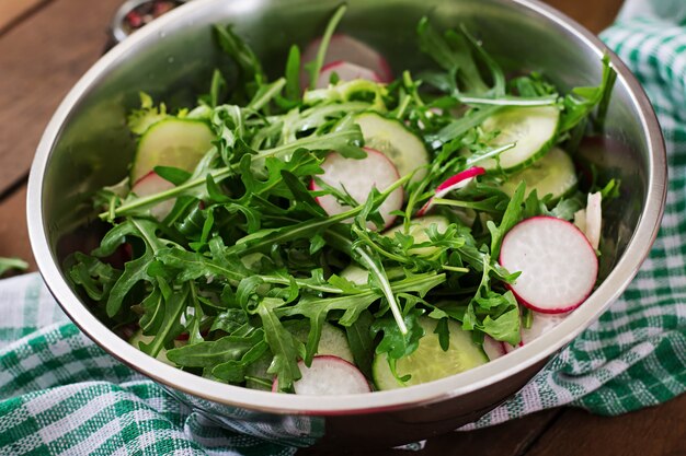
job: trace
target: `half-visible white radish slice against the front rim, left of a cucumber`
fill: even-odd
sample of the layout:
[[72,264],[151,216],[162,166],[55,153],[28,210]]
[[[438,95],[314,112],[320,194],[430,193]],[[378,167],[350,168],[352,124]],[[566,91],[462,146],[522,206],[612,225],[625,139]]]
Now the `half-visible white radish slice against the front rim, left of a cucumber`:
[[[302,361],[298,363],[298,367],[302,377],[293,384],[297,395],[329,396],[371,393],[364,374],[342,358],[315,356],[309,367]],[[272,391],[278,391],[278,381],[272,384]]]

